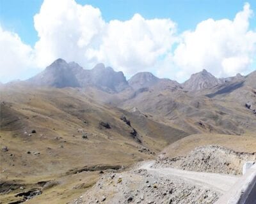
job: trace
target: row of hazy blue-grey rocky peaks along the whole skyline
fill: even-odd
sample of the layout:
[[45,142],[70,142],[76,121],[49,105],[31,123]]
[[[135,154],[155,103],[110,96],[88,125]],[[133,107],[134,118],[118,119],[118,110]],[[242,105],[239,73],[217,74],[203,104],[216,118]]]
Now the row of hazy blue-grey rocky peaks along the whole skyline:
[[244,80],[240,74],[236,77],[216,78],[211,73],[203,69],[199,73],[179,84],[168,78],[157,78],[152,73],[137,73],[129,80],[126,80],[122,71],[114,71],[111,67],[105,67],[104,64],[97,64],[93,69],[83,69],[76,62],[66,62],[63,59],[57,59],[47,66],[44,71],[29,78],[26,82],[33,85],[49,87],[97,87],[106,92],[121,92],[127,88],[138,90],[141,88],[161,86],[180,87],[186,91],[200,91],[209,89],[217,85],[228,84],[237,80]]

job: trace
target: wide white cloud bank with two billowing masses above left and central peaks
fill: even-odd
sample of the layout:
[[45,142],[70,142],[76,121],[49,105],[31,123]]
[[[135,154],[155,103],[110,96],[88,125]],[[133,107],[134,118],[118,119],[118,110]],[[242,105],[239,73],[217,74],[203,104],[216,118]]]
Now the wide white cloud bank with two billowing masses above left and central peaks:
[[40,40],[35,50],[39,66],[61,57],[83,66],[104,62],[126,74],[152,68],[172,47],[176,25],[170,19],[102,19],[100,10],[74,0],[45,0],[35,15]]

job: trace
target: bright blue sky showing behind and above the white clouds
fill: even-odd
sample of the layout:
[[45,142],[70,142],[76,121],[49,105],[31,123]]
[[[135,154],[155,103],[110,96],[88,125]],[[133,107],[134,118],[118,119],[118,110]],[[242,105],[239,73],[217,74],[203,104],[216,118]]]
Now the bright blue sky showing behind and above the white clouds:
[[[168,1],[168,0],[159,0],[159,1],[136,1],[136,0],[109,0],[109,1],[99,1],[99,0],[77,0],[77,4],[90,4],[93,8],[99,8],[101,12],[102,19],[108,23],[111,20],[120,20],[124,22],[125,20],[131,20],[135,13],[139,13],[141,17],[147,19],[152,18],[170,18],[172,22],[177,24],[176,36],[182,34],[184,31],[195,31],[196,25],[200,22],[207,20],[208,18],[213,18],[214,20],[221,20],[223,18],[227,18],[229,20],[233,20],[236,14],[239,11],[243,10],[243,6],[245,3],[250,4],[250,10],[256,11],[256,1],[240,1],[240,0],[204,0],[204,1],[193,1],[193,0],[176,0],[176,1]],[[19,35],[22,43],[29,45],[31,48],[34,48],[35,43],[40,40],[38,37],[38,31],[35,29],[34,19],[36,13],[39,13],[43,0],[0,0],[0,25],[4,31],[16,33]],[[250,25],[248,31],[255,31],[256,29],[256,18],[255,15],[250,17]],[[174,45],[175,48],[177,45]],[[170,50],[170,49],[169,49]],[[161,58],[161,56],[168,55],[167,52],[164,54],[157,56],[157,58]],[[71,58],[72,59],[72,58]],[[100,59],[100,58],[99,58]],[[102,58],[105,59],[105,58]],[[105,59],[106,61],[106,59]],[[89,66],[89,61],[82,62],[82,66]],[[88,63],[87,63],[88,62]],[[91,62],[91,61],[90,61]],[[87,64],[86,64],[87,63]],[[250,71],[252,71],[251,63]],[[122,70],[122,63],[116,63]],[[131,63],[129,63],[131,64]],[[172,64],[172,63],[171,63]],[[175,68],[173,70],[179,71],[179,65],[171,65]],[[1,64],[0,64],[1,65]],[[110,64],[115,65],[115,63]],[[35,66],[35,65],[33,65]],[[127,75],[132,75],[132,72],[127,71],[127,64],[124,65],[124,72],[126,70]],[[17,68],[18,69],[18,68]],[[161,73],[159,77],[164,77],[162,71],[158,71],[156,67],[156,62],[149,64],[148,68],[142,69],[152,71],[154,73]],[[37,73],[41,71],[41,69],[28,69],[26,73],[20,73],[20,78],[28,78],[31,77],[32,73]],[[241,69],[242,70],[242,69]],[[243,69],[246,70],[246,69]],[[249,69],[247,69],[248,71]],[[122,70],[123,71],[123,70]],[[140,71],[140,70],[139,70]],[[220,71],[218,73],[221,73]],[[215,74],[218,75],[216,72]],[[228,73],[228,72],[227,72]],[[227,74],[226,73],[226,74]],[[231,71],[229,73],[232,73]],[[246,73],[246,71],[244,71]],[[190,74],[190,73],[189,73]],[[220,76],[226,76],[226,74],[221,73]],[[179,74],[177,74],[179,75]],[[182,74],[181,74],[182,75]],[[228,74],[227,74],[228,75]],[[2,77],[2,78],[1,78]],[[19,78],[19,76],[15,76]],[[166,77],[175,78],[179,80],[179,77],[174,77],[174,75],[170,75],[170,73],[166,73]],[[181,77],[180,80],[184,80],[188,76]],[[6,82],[8,80],[12,80],[13,78],[6,78],[6,76],[0,76],[0,81]]]

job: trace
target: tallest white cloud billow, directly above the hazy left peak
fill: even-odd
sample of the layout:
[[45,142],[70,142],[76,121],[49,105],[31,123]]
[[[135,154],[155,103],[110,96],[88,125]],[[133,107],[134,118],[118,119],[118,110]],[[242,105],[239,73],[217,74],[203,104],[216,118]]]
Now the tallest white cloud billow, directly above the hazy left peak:
[[106,24],[98,8],[74,0],[45,0],[34,20],[39,36],[35,45],[38,66],[57,58],[82,65],[92,61],[86,52],[99,47]]

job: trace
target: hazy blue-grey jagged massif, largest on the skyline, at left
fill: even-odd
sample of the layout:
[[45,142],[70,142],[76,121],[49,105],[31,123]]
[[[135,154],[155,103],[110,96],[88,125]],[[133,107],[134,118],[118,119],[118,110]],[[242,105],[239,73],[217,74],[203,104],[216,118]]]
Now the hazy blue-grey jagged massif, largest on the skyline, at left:
[[128,86],[122,71],[116,72],[104,64],[97,64],[93,69],[83,69],[76,62],[67,63],[63,59],[57,59],[42,73],[29,78],[28,82],[57,88],[93,86],[108,92],[119,92]]

